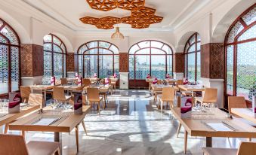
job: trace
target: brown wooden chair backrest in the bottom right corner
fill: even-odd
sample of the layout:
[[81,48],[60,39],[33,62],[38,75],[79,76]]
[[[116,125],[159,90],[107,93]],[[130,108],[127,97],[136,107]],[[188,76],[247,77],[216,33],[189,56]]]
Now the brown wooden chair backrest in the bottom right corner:
[[239,145],[237,155],[254,155],[256,153],[256,142],[243,141]]

